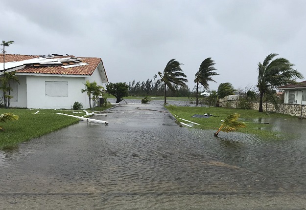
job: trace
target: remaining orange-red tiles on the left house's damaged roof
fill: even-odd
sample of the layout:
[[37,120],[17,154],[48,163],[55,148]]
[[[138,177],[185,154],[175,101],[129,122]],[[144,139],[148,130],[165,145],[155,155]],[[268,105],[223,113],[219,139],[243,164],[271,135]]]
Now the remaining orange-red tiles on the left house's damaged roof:
[[[33,58],[39,58],[37,55],[17,55],[17,54],[5,54],[5,62],[24,61]],[[68,58],[75,56],[55,56],[54,58]],[[66,75],[92,75],[95,68],[102,60],[100,58],[83,58],[77,57],[83,63],[88,65],[75,66],[70,68],[64,68],[62,65],[56,66],[34,66],[27,64],[23,69],[17,70],[18,73],[37,73],[37,74],[66,74]],[[0,54],[0,63],[3,62],[3,54]]]

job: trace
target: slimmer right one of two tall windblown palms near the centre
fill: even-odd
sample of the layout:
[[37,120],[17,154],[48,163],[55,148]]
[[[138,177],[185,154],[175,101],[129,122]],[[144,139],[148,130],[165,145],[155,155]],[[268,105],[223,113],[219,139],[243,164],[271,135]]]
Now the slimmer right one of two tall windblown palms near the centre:
[[212,79],[212,76],[219,75],[215,72],[214,68],[214,61],[212,58],[205,59],[199,68],[199,71],[195,74],[194,82],[196,83],[196,105],[199,105],[198,103],[198,87],[199,83],[203,85],[203,88],[208,90],[209,89],[209,81],[216,82]]

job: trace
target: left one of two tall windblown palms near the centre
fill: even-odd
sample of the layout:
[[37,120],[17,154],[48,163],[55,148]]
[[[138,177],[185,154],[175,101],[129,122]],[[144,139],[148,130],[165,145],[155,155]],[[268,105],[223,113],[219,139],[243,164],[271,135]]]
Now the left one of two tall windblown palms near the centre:
[[175,92],[175,88],[172,84],[177,84],[180,86],[187,86],[186,83],[188,82],[187,79],[185,79],[187,76],[183,73],[183,70],[181,69],[180,65],[183,63],[179,63],[178,61],[175,61],[175,59],[171,59],[165,69],[164,74],[162,72],[158,72],[161,80],[164,82],[164,91],[165,91],[165,104],[166,104],[166,86],[173,92]]

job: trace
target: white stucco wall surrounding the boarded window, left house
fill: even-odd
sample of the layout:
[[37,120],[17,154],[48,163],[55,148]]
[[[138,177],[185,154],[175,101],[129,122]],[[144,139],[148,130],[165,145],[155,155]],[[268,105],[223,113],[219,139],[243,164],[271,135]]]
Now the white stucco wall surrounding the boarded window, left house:
[[[46,96],[46,81],[68,82],[68,97]],[[71,109],[76,101],[83,103],[84,108],[87,108],[86,94],[81,93],[84,82],[84,77],[27,76],[27,108]]]

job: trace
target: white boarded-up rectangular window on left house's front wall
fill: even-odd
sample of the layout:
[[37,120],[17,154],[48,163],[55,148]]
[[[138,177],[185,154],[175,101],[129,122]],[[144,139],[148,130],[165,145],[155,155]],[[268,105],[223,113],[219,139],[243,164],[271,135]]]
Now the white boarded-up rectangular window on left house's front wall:
[[68,97],[68,82],[46,81],[46,96]]

